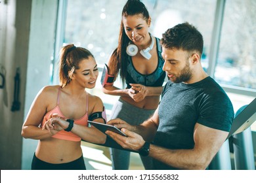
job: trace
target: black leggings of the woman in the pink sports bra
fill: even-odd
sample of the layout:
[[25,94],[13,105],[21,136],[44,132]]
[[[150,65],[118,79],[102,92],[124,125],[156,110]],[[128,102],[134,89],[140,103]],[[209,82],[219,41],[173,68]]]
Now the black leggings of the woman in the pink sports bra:
[[75,159],[74,161],[68,162],[68,163],[59,163],[59,164],[53,164],[53,163],[47,163],[45,161],[42,161],[41,159],[38,159],[35,154],[33,155],[32,160],[32,170],[86,170],[85,168],[85,161],[83,160],[83,155]]

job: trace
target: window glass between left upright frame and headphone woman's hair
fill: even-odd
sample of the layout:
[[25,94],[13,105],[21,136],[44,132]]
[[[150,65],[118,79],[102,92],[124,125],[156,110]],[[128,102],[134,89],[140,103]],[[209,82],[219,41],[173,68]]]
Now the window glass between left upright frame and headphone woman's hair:
[[117,46],[121,10],[126,0],[68,1],[64,42],[90,50],[98,64]]

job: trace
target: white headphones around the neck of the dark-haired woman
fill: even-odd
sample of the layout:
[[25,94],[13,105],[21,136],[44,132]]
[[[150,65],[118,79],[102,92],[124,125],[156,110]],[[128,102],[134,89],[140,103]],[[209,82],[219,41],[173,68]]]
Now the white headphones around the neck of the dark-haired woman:
[[[146,49],[140,50],[140,54],[146,59],[151,58],[150,50],[153,49],[154,43],[155,43],[155,40],[152,37],[152,35],[150,35],[150,37],[151,37],[151,40],[152,40],[150,46]],[[129,44],[126,48],[126,53],[129,56],[135,56],[138,53],[138,47],[135,44]]]

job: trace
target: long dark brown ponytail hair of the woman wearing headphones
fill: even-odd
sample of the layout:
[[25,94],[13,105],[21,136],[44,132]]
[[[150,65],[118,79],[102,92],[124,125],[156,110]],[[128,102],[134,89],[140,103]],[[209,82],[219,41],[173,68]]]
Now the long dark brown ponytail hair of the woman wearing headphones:
[[127,37],[125,33],[125,29],[123,26],[123,18],[127,16],[133,16],[136,14],[142,14],[142,18],[144,18],[146,22],[148,22],[148,19],[150,18],[148,10],[146,9],[145,5],[142,2],[140,2],[139,0],[128,0],[125,6],[123,7],[122,11],[118,46],[116,50],[114,50],[112,56],[110,57],[110,70],[114,71],[115,76],[117,76],[120,69],[120,76],[122,80],[125,80],[125,77],[127,75],[128,55],[126,53],[126,48],[130,42],[129,37]]

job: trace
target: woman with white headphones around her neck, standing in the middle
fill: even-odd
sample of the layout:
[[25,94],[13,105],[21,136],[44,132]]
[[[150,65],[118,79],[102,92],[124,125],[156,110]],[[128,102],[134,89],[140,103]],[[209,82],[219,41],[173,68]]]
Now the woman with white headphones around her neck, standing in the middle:
[[[102,91],[120,96],[110,119],[121,118],[136,125],[147,120],[158,107],[166,74],[162,71],[159,39],[149,33],[151,18],[145,5],[127,1],[121,18],[119,44],[104,69]],[[125,88],[114,86],[117,75],[126,82]],[[111,149],[111,154],[113,169],[129,169],[129,152]],[[145,169],[152,169],[150,158],[142,158],[142,162]]]

